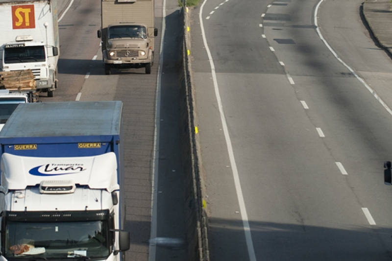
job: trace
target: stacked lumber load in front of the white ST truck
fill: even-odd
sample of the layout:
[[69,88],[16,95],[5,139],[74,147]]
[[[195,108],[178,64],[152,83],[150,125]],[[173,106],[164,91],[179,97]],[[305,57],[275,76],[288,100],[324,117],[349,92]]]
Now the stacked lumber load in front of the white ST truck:
[[23,71],[0,71],[0,86],[9,91],[35,90],[35,80],[33,72]]

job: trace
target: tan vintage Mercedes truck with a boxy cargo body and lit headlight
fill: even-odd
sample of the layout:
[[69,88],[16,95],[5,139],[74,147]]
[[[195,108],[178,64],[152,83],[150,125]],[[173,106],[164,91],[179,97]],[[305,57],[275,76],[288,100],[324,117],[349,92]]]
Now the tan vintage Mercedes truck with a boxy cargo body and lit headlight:
[[101,0],[102,60],[105,74],[112,68],[145,68],[154,63],[153,0]]

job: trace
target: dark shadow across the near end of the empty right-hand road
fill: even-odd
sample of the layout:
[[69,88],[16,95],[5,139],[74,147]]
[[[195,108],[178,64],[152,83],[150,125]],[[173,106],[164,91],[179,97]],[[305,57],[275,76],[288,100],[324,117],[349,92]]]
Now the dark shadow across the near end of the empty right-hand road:
[[[392,228],[336,224],[337,227],[249,221],[257,260],[370,261],[392,258]],[[332,224],[331,224],[332,225]],[[344,227],[344,228],[343,228]],[[247,260],[240,219],[210,218],[211,260]]]

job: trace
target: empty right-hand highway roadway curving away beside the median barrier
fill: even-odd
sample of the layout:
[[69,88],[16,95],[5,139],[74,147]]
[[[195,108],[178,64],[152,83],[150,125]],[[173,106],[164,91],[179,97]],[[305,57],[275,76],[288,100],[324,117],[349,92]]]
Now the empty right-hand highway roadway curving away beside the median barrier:
[[391,260],[392,61],[362,2],[192,10],[211,260]]

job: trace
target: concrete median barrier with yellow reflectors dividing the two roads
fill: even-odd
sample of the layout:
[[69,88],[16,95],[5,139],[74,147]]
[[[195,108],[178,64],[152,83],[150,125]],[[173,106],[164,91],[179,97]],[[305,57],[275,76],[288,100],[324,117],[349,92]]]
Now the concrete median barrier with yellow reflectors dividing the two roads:
[[[185,4],[183,4],[185,6]],[[184,37],[181,51],[180,83],[181,83],[181,144],[184,166],[184,197],[186,240],[189,261],[209,261],[207,215],[203,208],[203,181],[199,172],[198,141],[195,126],[194,94],[192,86],[192,70],[189,59],[190,33],[188,8],[183,7],[180,15],[184,21]]]

